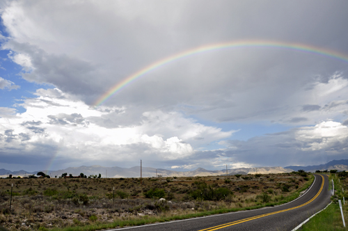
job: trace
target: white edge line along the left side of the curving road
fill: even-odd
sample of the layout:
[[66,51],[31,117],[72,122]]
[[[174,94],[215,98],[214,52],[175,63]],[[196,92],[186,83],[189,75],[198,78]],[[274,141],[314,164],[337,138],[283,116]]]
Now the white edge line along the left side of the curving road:
[[[305,193],[303,193],[301,196],[299,196],[298,198],[296,198],[295,200],[301,198],[303,195],[305,195],[306,193],[308,193],[308,191],[310,191],[310,189],[312,189],[312,186],[314,185],[315,183],[315,180],[317,179],[317,177],[315,177],[314,175],[314,181],[312,183],[312,185],[309,187],[309,189],[307,189],[307,191]],[[287,202],[283,205],[287,205],[291,202],[294,202],[295,200],[292,200],[290,202]],[[283,206],[283,205],[276,205],[274,207],[280,207],[280,206]],[[260,208],[260,209],[269,209],[269,208],[274,208],[274,207],[263,207],[263,208]],[[228,212],[226,214],[214,214],[214,215],[209,215],[209,216],[199,216],[199,217],[195,217],[195,218],[188,218],[188,219],[182,219],[182,220],[177,220],[177,221],[166,221],[166,222],[159,222],[159,223],[154,223],[154,224],[148,224],[148,225],[138,225],[138,226],[132,226],[132,227],[127,227],[127,228],[116,228],[116,229],[113,229],[113,230],[107,230],[107,231],[116,231],[116,230],[129,230],[129,229],[134,229],[134,228],[143,228],[143,227],[146,227],[146,226],[152,226],[152,225],[164,225],[164,224],[167,224],[167,223],[175,223],[175,222],[182,222],[182,221],[190,221],[190,220],[196,220],[196,219],[201,219],[201,218],[207,218],[207,217],[213,217],[213,216],[225,216],[225,215],[229,215],[229,214],[238,214],[238,213],[242,213],[242,212],[249,212],[249,211],[255,211],[255,210],[260,210],[260,209],[250,209],[250,210],[242,210],[242,211],[237,211],[237,212]]]

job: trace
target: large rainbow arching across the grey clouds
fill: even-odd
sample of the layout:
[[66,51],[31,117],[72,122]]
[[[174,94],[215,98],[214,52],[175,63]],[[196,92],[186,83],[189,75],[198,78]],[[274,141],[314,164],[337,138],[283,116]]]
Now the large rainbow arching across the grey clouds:
[[100,106],[100,104],[105,102],[106,99],[109,99],[112,95],[118,93],[119,90],[127,86],[129,83],[132,83],[132,81],[139,79],[140,77],[144,76],[145,74],[147,74],[148,72],[152,70],[155,70],[158,67],[161,67],[173,61],[176,61],[180,58],[185,58],[193,54],[200,54],[205,51],[212,51],[212,50],[225,49],[225,48],[238,48],[238,47],[269,47],[269,48],[274,47],[274,48],[281,48],[281,49],[292,49],[295,51],[305,51],[310,54],[327,56],[329,58],[335,58],[340,61],[348,62],[348,56],[345,54],[340,54],[338,51],[323,49],[320,47],[314,47],[311,45],[304,45],[299,43],[278,42],[278,41],[268,41],[268,40],[241,40],[241,41],[234,41],[234,42],[222,42],[222,43],[217,43],[212,45],[205,45],[202,47],[196,47],[193,49],[189,49],[187,51],[182,51],[172,56],[163,58],[155,63],[151,63],[150,65],[144,67],[143,69],[137,72],[134,72],[132,75],[130,75],[129,77],[126,77],[125,79],[117,83],[115,86],[110,88],[106,93],[104,93],[104,95],[102,95],[99,99],[97,99],[97,101],[95,101],[93,105]]

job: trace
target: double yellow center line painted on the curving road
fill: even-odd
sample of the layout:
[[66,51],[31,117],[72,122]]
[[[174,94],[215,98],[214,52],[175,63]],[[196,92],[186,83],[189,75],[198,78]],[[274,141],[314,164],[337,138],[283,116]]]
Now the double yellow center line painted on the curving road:
[[242,220],[239,220],[239,221],[233,221],[233,222],[230,222],[230,223],[225,223],[223,225],[217,225],[217,226],[214,226],[214,227],[211,227],[211,228],[206,228],[204,230],[198,230],[198,231],[212,231],[212,230],[219,230],[219,229],[222,229],[222,228],[226,228],[228,226],[232,226],[232,225],[237,225],[239,223],[244,223],[246,221],[252,221],[252,220],[255,220],[255,219],[258,219],[258,218],[262,218],[264,216],[270,216],[270,215],[273,215],[273,214],[280,214],[281,212],[287,212],[287,211],[290,211],[292,209],[297,209],[299,207],[303,207],[305,205],[308,205],[310,202],[312,202],[313,200],[315,200],[315,198],[317,198],[319,196],[319,194],[322,192],[322,189],[324,188],[324,177],[322,175],[320,175],[322,177],[322,186],[320,187],[320,190],[318,191],[317,195],[315,195],[315,197],[313,197],[312,199],[308,200],[308,202],[302,204],[302,205],[299,205],[299,206],[296,206],[296,207],[292,207],[290,209],[283,209],[283,210],[280,210],[280,211],[277,211],[277,212],[270,212],[268,214],[262,214],[262,215],[258,215],[258,216],[253,216],[253,217],[250,217],[250,218],[245,218],[245,219],[242,219]]

